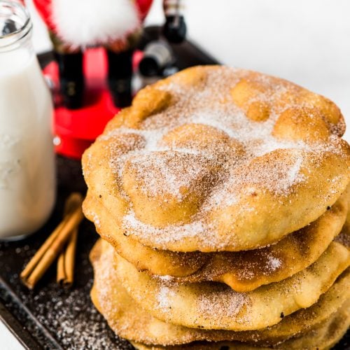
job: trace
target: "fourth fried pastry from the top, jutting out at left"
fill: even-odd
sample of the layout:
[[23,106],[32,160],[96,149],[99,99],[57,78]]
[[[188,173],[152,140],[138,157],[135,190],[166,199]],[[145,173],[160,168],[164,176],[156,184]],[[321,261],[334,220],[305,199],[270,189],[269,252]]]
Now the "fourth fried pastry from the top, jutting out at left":
[[94,267],[92,301],[116,334],[146,344],[187,344],[195,341],[238,340],[259,345],[273,345],[293,335],[315,328],[328,320],[337,309],[349,304],[350,271],[346,270],[316,304],[284,317],[280,323],[263,330],[232,332],[203,330],[164,323],[148,314],[127,294],[114,272],[113,251],[101,239],[90,253]]

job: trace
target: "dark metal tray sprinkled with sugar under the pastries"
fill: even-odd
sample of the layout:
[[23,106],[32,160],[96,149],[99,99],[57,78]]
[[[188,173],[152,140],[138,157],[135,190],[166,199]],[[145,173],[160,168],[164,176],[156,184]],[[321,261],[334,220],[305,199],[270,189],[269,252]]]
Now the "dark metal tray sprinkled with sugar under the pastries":
[[[148,29],[148,38],[157,36],[158,30]],[[174,47],[174,51],[180,69],[216,63],[188,41]],[[50,57],[42,55],[41,64],[48,63]],[[57,203],[50,220],[27,239],[0,243],[0,319],[27,349],[133,349],[113,333],[90,301],[93,276],[88,254],[97,240],[92,223],[85,220],[80,225],[73,288],[57,286],[55,266],[34,290],[20,282],[23,267],[59,223],[65,198],[76,190],[86,190],[80,162],[57,156]],[[335,349],[350,349],[349,335]]]

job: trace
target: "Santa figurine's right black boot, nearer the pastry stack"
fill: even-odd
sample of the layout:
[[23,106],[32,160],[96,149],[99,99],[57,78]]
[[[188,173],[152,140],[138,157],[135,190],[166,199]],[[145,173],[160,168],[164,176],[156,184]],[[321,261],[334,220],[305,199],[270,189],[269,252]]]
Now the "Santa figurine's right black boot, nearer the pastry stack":
[[132,102],[132,55],[133,50],[113,52],[107,50],[109,62],[108,83],[116,107],[127,107]]

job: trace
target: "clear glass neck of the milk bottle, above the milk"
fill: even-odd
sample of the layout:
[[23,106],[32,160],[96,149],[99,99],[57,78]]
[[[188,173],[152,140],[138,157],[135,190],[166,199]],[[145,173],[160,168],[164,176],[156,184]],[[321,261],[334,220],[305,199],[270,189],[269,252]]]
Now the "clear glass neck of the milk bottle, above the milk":
[[31,30],[29,13],[21,3],[0,0],[0,54],[19,48],[34,53]]

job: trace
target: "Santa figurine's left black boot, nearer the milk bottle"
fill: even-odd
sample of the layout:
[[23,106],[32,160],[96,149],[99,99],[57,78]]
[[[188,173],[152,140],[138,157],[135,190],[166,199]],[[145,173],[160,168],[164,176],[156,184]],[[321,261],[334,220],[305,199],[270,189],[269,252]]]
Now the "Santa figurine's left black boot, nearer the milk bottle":
[[67,109],[79,109],[83,106],[84,76],[83,53],[55,52],[59,68],[59,86],[63,104]]

